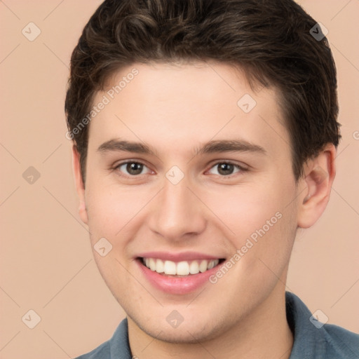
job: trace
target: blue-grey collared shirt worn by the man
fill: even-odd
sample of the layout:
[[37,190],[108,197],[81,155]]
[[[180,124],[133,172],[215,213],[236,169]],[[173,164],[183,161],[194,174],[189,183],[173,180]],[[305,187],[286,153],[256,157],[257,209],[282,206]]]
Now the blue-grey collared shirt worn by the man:
[[[358,359],[359,335],[318,322],[299,297],[285,292],[287,322],[294,336],[290,359]],[[127,319],[114,335],[90,353],[76,359],[132,359]]]

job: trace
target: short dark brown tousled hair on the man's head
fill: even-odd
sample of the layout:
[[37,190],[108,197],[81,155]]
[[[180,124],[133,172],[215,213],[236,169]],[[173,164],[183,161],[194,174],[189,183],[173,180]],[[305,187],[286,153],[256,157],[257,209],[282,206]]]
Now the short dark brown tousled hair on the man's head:
[[135,62],[198,60],[238,65],[250,83],[279,90],[299,179],[306,160],[341,137],[336,68],[315,26],[292,0],[105,0],[74,48],[65,100],[83,181],[88,126],[74,129],[109,76]]

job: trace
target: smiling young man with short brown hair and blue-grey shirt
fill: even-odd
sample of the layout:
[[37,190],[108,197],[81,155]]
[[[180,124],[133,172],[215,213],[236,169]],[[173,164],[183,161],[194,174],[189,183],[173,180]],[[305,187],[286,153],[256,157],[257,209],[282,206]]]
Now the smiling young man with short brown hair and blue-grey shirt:
[[107,0],[71,66],[79,213],[127,313],[79,358],[358,358],[285,292],[340,137],[316,21],[292,0]]

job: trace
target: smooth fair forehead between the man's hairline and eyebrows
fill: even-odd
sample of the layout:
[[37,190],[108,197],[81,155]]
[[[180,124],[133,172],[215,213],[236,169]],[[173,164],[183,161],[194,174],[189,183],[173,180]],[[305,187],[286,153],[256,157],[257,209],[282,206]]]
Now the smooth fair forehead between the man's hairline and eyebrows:
[[94,105],[104,98],[89,149],[119,137],[164,153],[209,140],[242,138],[276,151],[289,143],[276,90],[255,92],[243,71],[224,63],[133,64],[107,79]]

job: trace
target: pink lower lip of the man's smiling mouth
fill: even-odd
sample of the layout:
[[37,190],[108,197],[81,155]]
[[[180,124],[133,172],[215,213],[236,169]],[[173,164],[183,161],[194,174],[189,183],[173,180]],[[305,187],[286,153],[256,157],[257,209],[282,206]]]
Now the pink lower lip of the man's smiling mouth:
[[189,274],[186,277],[172,277],[159,274],[142,264],[141,259],[137,259],[140,270],[147,278],[149,283],[157,289],[170,294],[188,294],[198,290],[198,288],[209,282],[210,276],[215,273],[222,263],[217,264],[212,269],[198,274]]

